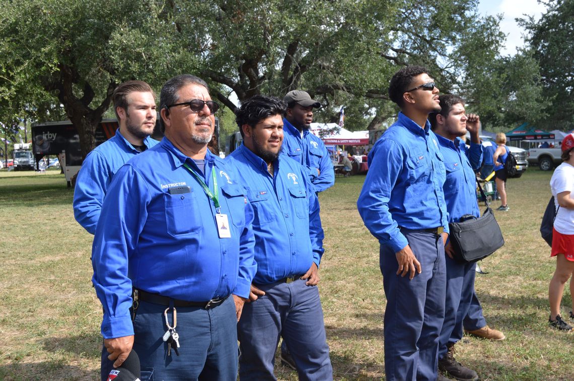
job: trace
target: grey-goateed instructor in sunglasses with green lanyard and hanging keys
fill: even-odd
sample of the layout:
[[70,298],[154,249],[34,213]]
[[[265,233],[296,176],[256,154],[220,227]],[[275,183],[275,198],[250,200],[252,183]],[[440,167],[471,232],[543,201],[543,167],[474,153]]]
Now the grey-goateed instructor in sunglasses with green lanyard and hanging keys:
[[253,209],[238,172],[207,149],[219,108],[207,84],[176,76],[160,102],[164,139],[114,176],[94,236],[108,359],[121,366],[133,348],[142,379],[235,380]]

